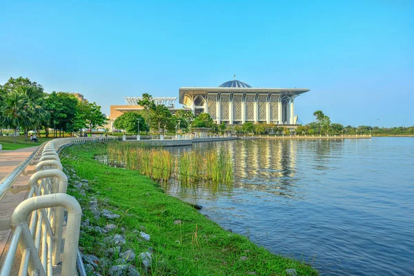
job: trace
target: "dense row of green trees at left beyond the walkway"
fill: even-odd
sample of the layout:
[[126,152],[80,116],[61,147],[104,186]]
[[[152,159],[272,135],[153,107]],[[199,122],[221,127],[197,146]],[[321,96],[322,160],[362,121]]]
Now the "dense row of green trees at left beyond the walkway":
[[23,132],[25,139],[28,131],[34,130],[46,137],[61,137],[64,133],[82,132],[106,123],[101,107],[96,103],[79,101],[69,92],[44,92],[43,86],[28,78],[10,77],[0,85],[0,135],[3,128],[14,130],[14,143],[17,131]]

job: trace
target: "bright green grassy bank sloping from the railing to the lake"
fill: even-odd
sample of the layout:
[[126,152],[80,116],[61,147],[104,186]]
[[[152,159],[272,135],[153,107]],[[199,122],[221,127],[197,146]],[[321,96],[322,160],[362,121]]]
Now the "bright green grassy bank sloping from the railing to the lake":
[[[83,144],[61,152],[63,166],[75,169],[81,179],[89,180],[86,196],[75,189],[69,193],[82,205],[83,221],[88,218],[92,226],[118,226],[115,231],[126,235],[127,241],[121,251],[131,248],[138,255],[153,248],[150,270],[141,268],[138,257],[132,262],[141,275],[287,275],[289,268],[295,268],[297,275],[318,275],[304,262],[273,255],[246,237],[227,232],[192,206],[164,193],[159,184],[139,172],[99,163],[94,156],[105,148],[102,143]],[[95,219],[85,208],[90,196],[98,199],[100,209],[112,210],[121,219]],[[179,219],[181,224],[174,224]],[[124,233],[121,227],[126,229]],[[133,231],[141,229],[150,235],[149,242],[137,239],[139,234]],[[104,257],[106,248],[102,241],[107,235],[83,229],[79,246],[84,254]],[[243,256],[247,259],[242,260]],[[113,256],[110,262],[117,264],[117,257]],[[98,268],[102,275],[107,271],[108,265]]]

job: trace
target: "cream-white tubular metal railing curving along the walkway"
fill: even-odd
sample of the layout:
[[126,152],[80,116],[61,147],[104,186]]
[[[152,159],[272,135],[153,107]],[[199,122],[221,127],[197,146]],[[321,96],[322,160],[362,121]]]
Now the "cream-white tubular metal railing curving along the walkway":
[[52,275],[53,266],[61,262],[65,209],[68,219],[61,275],[75,275],[82,212],[77,200],[66,194],[68,178],[62,172],[58,152],[70,144],[117,139],[119,137],[77,137],[49,141],[0,182],[1,199],[29,164],[39,162],[28,183],[27,199],[12,214],[10,226],[13,233],[0,276],[10,275],[17,248],[21,253],[19,275]]

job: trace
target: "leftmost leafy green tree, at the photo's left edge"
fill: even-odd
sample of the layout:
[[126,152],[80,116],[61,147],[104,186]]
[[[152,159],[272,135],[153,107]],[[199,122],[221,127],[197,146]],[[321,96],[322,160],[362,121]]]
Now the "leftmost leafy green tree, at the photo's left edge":
[[14,128],[14,143],[16,143],[17,128],[28,121],[28,97],[19,90],[13,90],[3,97],[0,108],[0,124]]

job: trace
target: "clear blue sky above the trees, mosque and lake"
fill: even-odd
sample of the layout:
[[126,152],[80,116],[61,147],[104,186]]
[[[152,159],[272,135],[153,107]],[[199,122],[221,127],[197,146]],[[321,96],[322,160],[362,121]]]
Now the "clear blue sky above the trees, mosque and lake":
[[1,1],[0,83],[29,77],[107,114],[181,86],[309,88],[304,123],[414,125],[414,1]]

